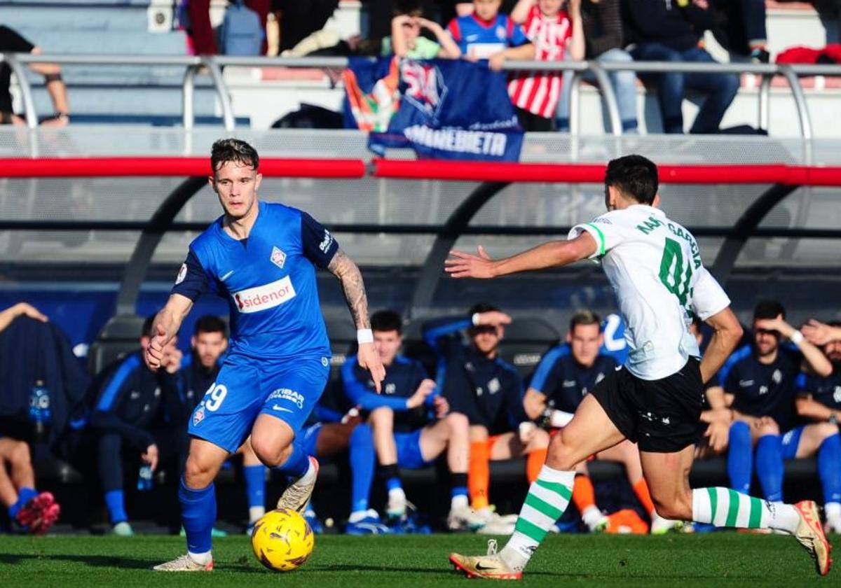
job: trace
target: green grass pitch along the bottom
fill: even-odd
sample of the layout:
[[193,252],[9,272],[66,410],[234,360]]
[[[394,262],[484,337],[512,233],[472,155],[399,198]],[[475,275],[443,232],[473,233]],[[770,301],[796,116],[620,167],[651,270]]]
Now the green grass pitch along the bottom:
[[[835,536],[833,539],[838,539]],[[500,538],[500,546],[503,541]],[[214,541],[210,574],[164,574],[151,565],[182,554],[182,538],[0,536],[0,586],[404,586],[480,584],[456,575],[450,551],[484,553],[485,538],[470,535],[319,536],[302,568],[265,570],[248,538]],[[532,586],[806,586],[841,585],[841,572],[819,578],[791,537],[740,533],[633,537],[550,536],[526,571]]]

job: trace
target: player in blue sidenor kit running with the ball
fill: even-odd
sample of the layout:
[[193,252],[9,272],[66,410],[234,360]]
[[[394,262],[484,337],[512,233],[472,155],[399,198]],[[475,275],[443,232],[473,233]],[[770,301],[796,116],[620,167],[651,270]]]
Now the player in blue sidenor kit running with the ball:
[[385,375],[373,347],[362,275],[336,239],[307,213],[257,199],[262,174],[250,144],[220,139],[210,164],[209,183],[225,214],[190,244],[145,352],[147,365],[156,370],[193,302],[209,291],[227,299],[229,352],[190,417],[190,449],[178,491],[188,551],[155,566],[161,571],[213,570],[213,480],[249,434],[262,463],[294,479],[278,508],[300,511],[309,501],[318,462],[296,434],[330,374],[315,266],[341,281],[357,326],[357,361],[370,370],[377,391]]

